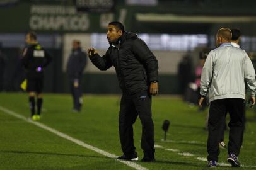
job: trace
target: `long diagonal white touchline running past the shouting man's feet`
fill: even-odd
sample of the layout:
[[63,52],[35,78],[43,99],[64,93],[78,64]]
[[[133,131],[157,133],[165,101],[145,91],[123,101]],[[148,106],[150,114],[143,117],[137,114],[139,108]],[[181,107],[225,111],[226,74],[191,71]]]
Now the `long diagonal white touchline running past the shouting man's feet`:
[[65,133],[59,132],[58,130],[55,130],[54,128],[50,128],[47,125],[44,125],[43,123],[34,122],[33,120],[28,120],[25,116],[22,116],[18,113],[15,113],[14,111],[8,110],[7,108],[4,108],[3,106],[0,106],[0,110],[4,111],[4,113],[7,113],[8,115],[15,116],[16,118],[19,118],[21,120],[24,120],[28,123],[32,123],[33,125],[36,125],[37,127],[43,128],[44,130],[48,130],[49,132],[54,133],[55,135],[62,137],[64,139],[70,140],[71,142],[74,142],[75,144],[78,144],[82,147],[85,147],[86,149],[93,150],[97,152],[98,154],[102,154],[103,156],[110,157],[115,159],[116,161],[122,162],[123,164],[126,164],[127,166],[133,167],[137,170],[147,170],[146,167],[140,166],[139,164],[136,164],[135,162],[131,161],[122,161],[120,159],[116,159],[117,156],[115,154],[110,154],[109,152],[106,152],[104,150],[98,149],[98,147],[94,147],[92,145],[86,144],[81,140],[75,139],[73,137],[70,137],[69,135],[66,135]]

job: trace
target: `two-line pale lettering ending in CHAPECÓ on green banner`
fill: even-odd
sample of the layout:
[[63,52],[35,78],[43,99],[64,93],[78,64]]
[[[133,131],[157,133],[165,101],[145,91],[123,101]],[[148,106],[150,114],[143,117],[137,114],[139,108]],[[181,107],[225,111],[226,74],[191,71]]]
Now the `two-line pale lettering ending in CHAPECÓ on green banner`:
[[86,31],[89,26],[88,14],[77,13],[73,6],[32,5],[30,8],[32,30]]

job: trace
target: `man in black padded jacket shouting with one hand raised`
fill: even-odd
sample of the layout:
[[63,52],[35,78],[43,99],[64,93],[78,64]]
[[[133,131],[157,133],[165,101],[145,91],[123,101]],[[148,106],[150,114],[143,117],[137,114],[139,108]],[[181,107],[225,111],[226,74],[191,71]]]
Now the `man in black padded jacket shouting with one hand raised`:
[[119,159],[138,160],[132,125],[139,115],[143,127],[142,161],[155,161],[151,95],[158,94],[158,61],[143,40],[137,38],[135,33],[124,31],[122,23],[108,24],[107,39],[110,47],[103,57],[94,48],[88,49],[88,54],[98,69],[107,70],[113,65],[117,72],[122,89],[119,136],[124,152]]

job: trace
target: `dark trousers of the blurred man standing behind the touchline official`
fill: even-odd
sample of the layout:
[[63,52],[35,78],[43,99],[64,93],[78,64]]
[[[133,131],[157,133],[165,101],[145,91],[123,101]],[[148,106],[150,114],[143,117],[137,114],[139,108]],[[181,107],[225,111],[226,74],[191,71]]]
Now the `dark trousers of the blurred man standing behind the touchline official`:
[[70,91],[73,97],[73,108],[80,111],[81,105],[83,104],[82,101],[82,89],[81,89],[81,80],[78,81],[78,87],[74,87],[74,79],[69,79],[70,84]]

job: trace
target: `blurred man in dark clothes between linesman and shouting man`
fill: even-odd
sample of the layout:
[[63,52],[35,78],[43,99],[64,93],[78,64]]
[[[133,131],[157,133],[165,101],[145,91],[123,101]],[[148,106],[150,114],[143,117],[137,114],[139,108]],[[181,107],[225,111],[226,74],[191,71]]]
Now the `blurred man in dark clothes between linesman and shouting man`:
[[72,52],[67,62],[67,74],[73,96],[73,111],[79,112],[83,104],[81,78],[86,65],[86,54],[81,50],[79,40],[73,40],[72,46]]

